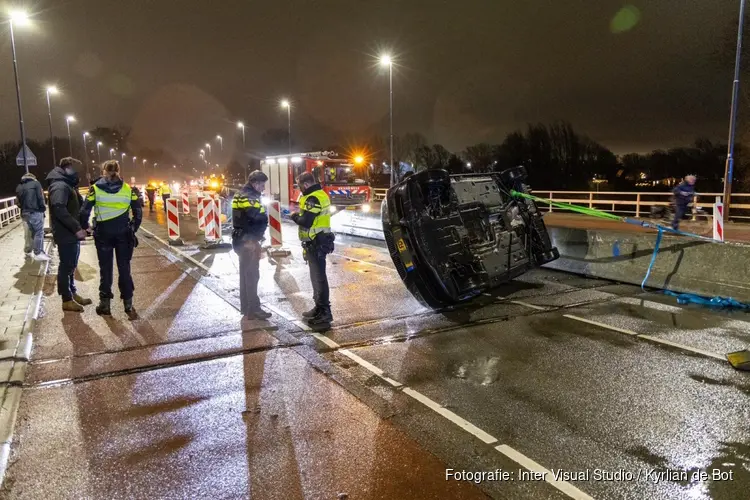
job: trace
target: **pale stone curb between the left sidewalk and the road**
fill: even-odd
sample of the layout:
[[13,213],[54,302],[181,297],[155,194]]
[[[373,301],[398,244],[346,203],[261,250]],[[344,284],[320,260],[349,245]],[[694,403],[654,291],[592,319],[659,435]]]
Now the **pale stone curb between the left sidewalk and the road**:
[[[52,242],[47,242],[46,252],[49,255]],[[26,368],[31,359],[31,349],[34,343],[34,330],[39,319],[39,310],[42,305],[44,292],[44,279],[49,272],[49,261],[39,266],[37,280],[34,286],[34,294],[30,297],[26,315],[24,317],[23,330],[16,344],[13,357],[6,362],[11,364],[9,378],[0,382],[2,388],[2,405],[0,406],[0,487],[5,482],[5,473],[8,470],[10,460],[10,449],[13,443],[13,433],[16,427],[16,417],[21,404],[21,385],[26,378]]]

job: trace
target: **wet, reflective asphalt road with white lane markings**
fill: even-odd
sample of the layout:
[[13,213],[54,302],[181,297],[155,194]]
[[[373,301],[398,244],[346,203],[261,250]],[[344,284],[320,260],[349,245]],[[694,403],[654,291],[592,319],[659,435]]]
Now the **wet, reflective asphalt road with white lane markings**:
[[[339,238],[321,339],[294,322],[311,292],[284,230],[270,322],[241,321],[236,256],[190,220],[184,254],[141,237],[136,321],[63,314],[49,280],[2,496],[747,498],[750,379],[710,357],[750,344],[746,314],[547,270],[435,313],[385,249]],[[95,266],[87,243],[92,296]]]

